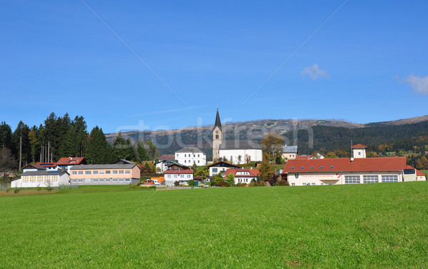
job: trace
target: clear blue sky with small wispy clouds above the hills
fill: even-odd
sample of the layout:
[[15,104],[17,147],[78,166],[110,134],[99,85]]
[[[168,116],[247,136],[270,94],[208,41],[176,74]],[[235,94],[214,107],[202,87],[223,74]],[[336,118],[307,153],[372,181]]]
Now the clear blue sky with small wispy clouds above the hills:
[[109,133],[213,124],[217,104],[223,121],[427,114],[426,1],[84,3],[161,80],[81,1],[1,1],[0,121],[68,112]]

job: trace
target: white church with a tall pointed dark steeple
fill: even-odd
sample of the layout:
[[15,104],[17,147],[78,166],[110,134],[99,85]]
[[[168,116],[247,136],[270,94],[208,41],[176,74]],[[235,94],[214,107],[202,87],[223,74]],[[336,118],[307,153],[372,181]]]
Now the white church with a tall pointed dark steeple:
[[233,164],[263,161],[262,147],[259,143],[248,140],[223,140],[218,108],[213,128],[213,162],[217,161],[229,161]]

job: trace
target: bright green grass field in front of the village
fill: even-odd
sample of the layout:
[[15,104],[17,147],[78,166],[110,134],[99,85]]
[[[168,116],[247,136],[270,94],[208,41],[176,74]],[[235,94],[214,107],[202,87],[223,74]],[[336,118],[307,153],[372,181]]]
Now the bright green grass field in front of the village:
[[428,183],[0,196],[1,268],[428,268]]

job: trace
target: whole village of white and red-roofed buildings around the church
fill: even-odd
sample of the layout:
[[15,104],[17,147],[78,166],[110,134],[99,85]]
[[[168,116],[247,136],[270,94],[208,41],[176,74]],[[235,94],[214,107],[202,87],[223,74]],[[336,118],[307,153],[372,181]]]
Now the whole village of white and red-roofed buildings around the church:
[[[297,146],[284,145],[281,169],[263,176],[269,165],[260,144],[223,141],[217,109],[213,127],[213,161],[199,148],[181,148],[160,156],[151,165],[157,176],[144,176],[146,167],[120,159],[110,164],[87,164],[84,157],[63,157],[56,163],[31,163],[11,188],[54,188],[86,185],[137,185],[165,187],[210,186],[317,186],[358,183],[426,181],[421,171],[407,165],[405,157],[367,158],[367,146],[352,146],[350,158],[325,158],[320,153],[299,155]],[[263,159],[265,156],[265,159]],[[248,165],[253,165],[248,167]]]

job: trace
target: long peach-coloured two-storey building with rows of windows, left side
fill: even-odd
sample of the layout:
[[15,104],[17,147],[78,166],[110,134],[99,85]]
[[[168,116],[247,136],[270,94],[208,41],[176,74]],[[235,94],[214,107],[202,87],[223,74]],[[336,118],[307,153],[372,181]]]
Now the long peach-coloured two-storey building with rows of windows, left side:
[[140,168],[135,164],[93,164],[70,168],[73,185],[128,185],[140,182]]

